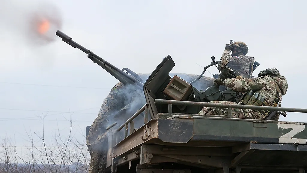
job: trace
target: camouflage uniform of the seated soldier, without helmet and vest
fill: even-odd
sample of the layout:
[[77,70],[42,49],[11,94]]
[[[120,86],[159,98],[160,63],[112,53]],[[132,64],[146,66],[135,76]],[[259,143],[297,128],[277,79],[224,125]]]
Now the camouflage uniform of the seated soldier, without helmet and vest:
[[[273,106],[276,104],[276,97],[282,98],[282,95],[286,94],[288,89],[288,83],[285,77],[283,76],[270,76],[263,75],[257,78],[232,78],[219,80],[221,84],[226,87],[229,87],[238,92],[250,92],[255,91],[259,93],[260,96],[264,97],[264,105],[261,106]],[[278,94],[278,95],[277,95]],[[244,98],[247,95],[243,96],[239,104],[243,104]],[[258,97],[259,98],[259,97]],[[227,101],[211,101],[209,103],[224,103],[224,104],[238,104],[234,102]],[[246,104],[246,103],[244,103]],[[248,104],[247,104],[248,105]],[[280,105],[279,105],[280,106]],[[198,113],[199,115],[227,115],[227,109],[225,108],[210,108],[203,107],[203,109]],[[242,110],[232,108],[232,116],[235,118],[242,119],[265,119],[266,115],[262,111],[254,110]],[[278,120],[279,115],[277,114],[271,120]]]

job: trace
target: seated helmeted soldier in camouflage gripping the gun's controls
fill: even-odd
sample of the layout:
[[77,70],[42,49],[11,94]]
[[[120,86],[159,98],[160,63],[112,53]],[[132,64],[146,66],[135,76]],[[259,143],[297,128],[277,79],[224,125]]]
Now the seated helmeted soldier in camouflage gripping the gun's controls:
[[[232,78],[216,79],[215,85],[224,85],[235,91],[243,92],[245,95],[239,102],[244,105],[272,106],[280,107],[282,95],[285,95],[288,89],[288,83],[284,76],[279,74],[275,68],[260,71],[257,78]],[[228,101],[211,101],[209,103],[238,104]],[[232,116],[241,119],[266,119],[270,111],[254,111],[232,108]],[[203,107],[199,115],[227,115],[227,108]],[[285,112],[277,112],[271,120],[278,120],[279,115],[286,116]]]

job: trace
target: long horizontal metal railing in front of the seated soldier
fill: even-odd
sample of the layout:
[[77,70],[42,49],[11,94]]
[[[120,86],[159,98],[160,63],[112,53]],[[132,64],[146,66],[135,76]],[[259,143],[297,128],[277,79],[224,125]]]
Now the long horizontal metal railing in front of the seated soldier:
[[190,105],[190,106],[202,106],[202,107],[228,108],[227,113],[228,113],[229,118],[231,117],[231,113],[232,113],[231,108],[307,113],[307,109],[288,108],[288,107],[251,106],[251,105],[224,104],[224,103],[204,103],[204,102],[190,102],[190,101],[164,100],[164,99],[155,99],[155,103],[156,104],[168,104],[170,116],[173,115],[172,105]]

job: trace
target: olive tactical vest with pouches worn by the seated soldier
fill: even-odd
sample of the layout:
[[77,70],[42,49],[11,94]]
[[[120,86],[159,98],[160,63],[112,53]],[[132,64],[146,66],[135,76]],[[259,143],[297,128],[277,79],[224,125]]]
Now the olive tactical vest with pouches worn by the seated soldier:
[[[276,82],[275,86],[276,86],[276,96],[272,105],[270,105],[265,101],[264,96],[260,95],[260,93],[253,90],[250,90],[247,93],[245,93],[239,103],[243,105],[278,107],[282,99],[279,97],[280,89]],[[267,110],[257,110],[257,111],[266,117],[270,115],[270,113],[272,112]]]

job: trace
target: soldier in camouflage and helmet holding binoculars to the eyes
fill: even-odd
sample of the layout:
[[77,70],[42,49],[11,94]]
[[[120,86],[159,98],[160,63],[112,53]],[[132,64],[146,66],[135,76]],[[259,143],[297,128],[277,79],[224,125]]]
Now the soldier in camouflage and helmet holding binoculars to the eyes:
[[226,44],[222,55],[223,58],[229,61],[227,66],[237,70],[240,76],[244,78],[251,77],[255,62],[254,57],[246,56],[247,52],[248,47],[244,42],[232,42],[231,44]]

